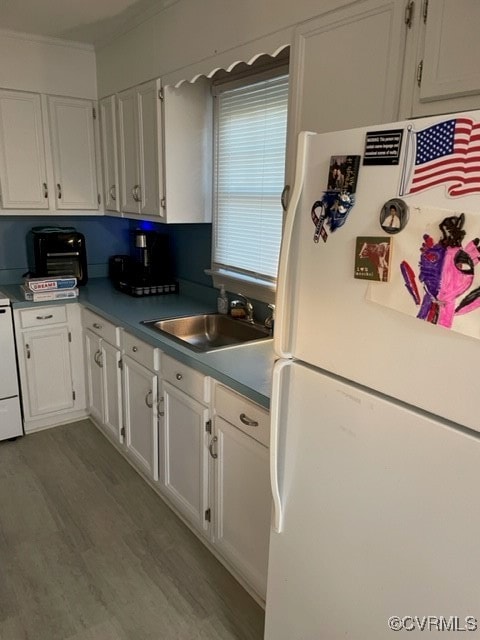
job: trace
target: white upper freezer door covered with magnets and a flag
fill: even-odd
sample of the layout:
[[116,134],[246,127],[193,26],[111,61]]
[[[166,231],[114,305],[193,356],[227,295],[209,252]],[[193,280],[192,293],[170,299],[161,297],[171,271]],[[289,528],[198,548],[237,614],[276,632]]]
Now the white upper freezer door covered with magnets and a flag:
[[[480,122],[480,112],[471,115]],[[431,120],[422,119],[414,126],[421,129]],[[408,124],[382,125],[381,129],[402,128],[406,138]],[[402,165],[360,165],[355,205],[344,226],[328,231],[326,242],[321,237],[314,241],[312,205],[327,187],[331,157],[363,155],[367,131],[377,129],[304,134],[299,139],[295,197],[287,213],[279,265],[276,352],[480,430],[474,401],[478,394],[475,363],[480,359],[480,309],[455,319],[461,323],[464,318],[477,318],[478,339],[473,339],[418,320],[418,309],[403,284],[392,295],[402,300],[411,315],[370,302],[368,282],[354,278],[357,237],[392,239],[391,280],[393,273],[398,280],[399,243],[412,238],[415,250],[419,250],[426,231],[425,210],[419,213],[417,205],[473,215],[480,211],[480,195],[447,199],[440,185],[405,196],[410,207],[408,225],[401,233],[387,236],[379,217],[383,204],[398,196]],[[436,232],[433,228],[431,232],[439,235],[435,228]],[[417,270],[417,264],[412,268]],[[476,270],[480,273],[480,265]],[[390,283],[372,282],[371,286],[392,291]],[[421,285],[419,288],[421,291]]]

